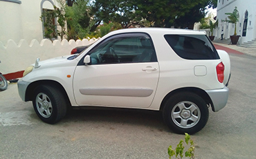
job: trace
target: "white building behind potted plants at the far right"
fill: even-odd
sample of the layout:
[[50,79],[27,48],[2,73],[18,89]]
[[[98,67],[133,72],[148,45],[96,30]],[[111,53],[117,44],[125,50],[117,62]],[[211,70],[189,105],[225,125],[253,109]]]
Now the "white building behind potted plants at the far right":
[[217,19],[219,26],[216,36],[221,38],[221,30],[223,30],[223,38],[230,39],[230,35],[234,35],[235,25],[225,22],[228,15],[226,12],[233,12],[235,7],[239,12],[239,22],[237,23],[237,35],[240,35],[239,43],[256,39],[256,0],[217,0]]

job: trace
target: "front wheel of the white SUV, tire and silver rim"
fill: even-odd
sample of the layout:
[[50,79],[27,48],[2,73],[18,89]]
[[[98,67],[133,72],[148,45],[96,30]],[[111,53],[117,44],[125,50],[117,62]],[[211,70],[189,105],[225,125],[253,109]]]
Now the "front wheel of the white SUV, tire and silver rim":
[[63,93],[54,86],[38,86],[34,91],[33,107],[37,116],[48,124],[55,124],[66,115]]

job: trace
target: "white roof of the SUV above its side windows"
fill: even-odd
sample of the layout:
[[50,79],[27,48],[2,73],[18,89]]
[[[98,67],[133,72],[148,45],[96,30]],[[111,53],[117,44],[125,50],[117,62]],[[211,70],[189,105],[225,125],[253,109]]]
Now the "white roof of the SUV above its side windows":
[[174,34],[174,35],[205,35],[205,31],[189,30],[189,29],[177,29],[177,28],[125,28],[109,32],[109,35],[116,35],[118,33],[127,32],[146,32],[149,34]]

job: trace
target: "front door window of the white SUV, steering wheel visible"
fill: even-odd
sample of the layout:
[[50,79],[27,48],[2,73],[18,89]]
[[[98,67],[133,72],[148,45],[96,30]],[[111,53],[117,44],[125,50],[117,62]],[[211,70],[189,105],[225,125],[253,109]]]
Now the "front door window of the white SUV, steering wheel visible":
[[91,64],[156,62],[156,53],[148,35],[122,34],[109,37],[90,52]]

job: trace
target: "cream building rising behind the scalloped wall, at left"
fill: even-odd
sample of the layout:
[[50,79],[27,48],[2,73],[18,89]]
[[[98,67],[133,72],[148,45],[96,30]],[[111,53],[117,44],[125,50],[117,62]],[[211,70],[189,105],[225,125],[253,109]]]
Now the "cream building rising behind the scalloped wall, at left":
[[44,39],[42,10],[53,10],[57,0],[0,0],[0,41]]

